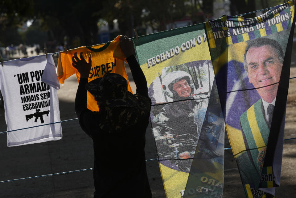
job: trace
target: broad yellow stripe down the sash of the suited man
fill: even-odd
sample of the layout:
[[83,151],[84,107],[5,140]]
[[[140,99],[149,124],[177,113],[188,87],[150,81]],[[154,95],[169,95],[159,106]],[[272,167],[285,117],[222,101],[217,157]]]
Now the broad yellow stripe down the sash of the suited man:
[[256,116],[255,116],[254,105],[252,105],[247,110],[247,117],[248,117],[248,121],[249,121],[249,124],[250,124],[250,128],[251,128],[251,131],[252,131],[256,146],[257,146],[258,151],[260,153],[261,149],[259,149],[259,148],[263,147],[263,146],[266,146],[266,145],[265,145],[265,143],[263,141],[263,138],[262,138],[261,133],[260,133],[260,129],[258,127],[258,123],[257,123]]

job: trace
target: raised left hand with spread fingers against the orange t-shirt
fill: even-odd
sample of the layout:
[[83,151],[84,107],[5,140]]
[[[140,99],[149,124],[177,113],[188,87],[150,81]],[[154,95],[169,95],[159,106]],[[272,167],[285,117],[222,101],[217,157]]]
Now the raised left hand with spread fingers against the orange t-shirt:
[[80,73],[80,78],[88,78],[89,71],[92,68],[92,60],[89,57],[87,63],[82,56],[82,52],[80,52],[79,57],[80,59],[77,57],[77,52],[75,52],[74,56],[72,57],[72,65]]

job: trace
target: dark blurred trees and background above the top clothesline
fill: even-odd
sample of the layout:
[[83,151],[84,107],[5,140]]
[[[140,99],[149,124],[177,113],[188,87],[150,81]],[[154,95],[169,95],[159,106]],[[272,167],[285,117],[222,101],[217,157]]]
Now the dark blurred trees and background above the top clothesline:
[[[203,23],[223,14],[239,15],[283,0],[0,0],[0,47],[94,45],[116,36],[134,37]],[[255,17],[261,13],[246,15]]]

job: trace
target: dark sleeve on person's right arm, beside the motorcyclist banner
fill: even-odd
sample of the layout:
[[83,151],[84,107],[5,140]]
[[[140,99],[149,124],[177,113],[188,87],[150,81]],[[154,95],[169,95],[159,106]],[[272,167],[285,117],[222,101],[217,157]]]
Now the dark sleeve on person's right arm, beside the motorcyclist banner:
[[148,96],[147,81],[137,59],[134,55],[130,55],[126,58],[126,61],[130,66],[130,71],[132,72],[133,79],[137,87],[136,94]]

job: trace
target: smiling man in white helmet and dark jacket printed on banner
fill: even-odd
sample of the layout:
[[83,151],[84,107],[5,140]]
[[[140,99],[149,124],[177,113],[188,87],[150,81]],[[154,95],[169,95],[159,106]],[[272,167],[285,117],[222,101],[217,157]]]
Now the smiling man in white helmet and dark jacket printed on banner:
[[[159,157],[167,158],[164,153],[169,153],[174,147],[176,158],[193,158],[208,106],[208,95],[196,95],[191,75],[180,70],[163,78],[162,90],[173,102],[162,107],[153,128]],[[189,172],[190,166],[186,169],[183,171]]]

